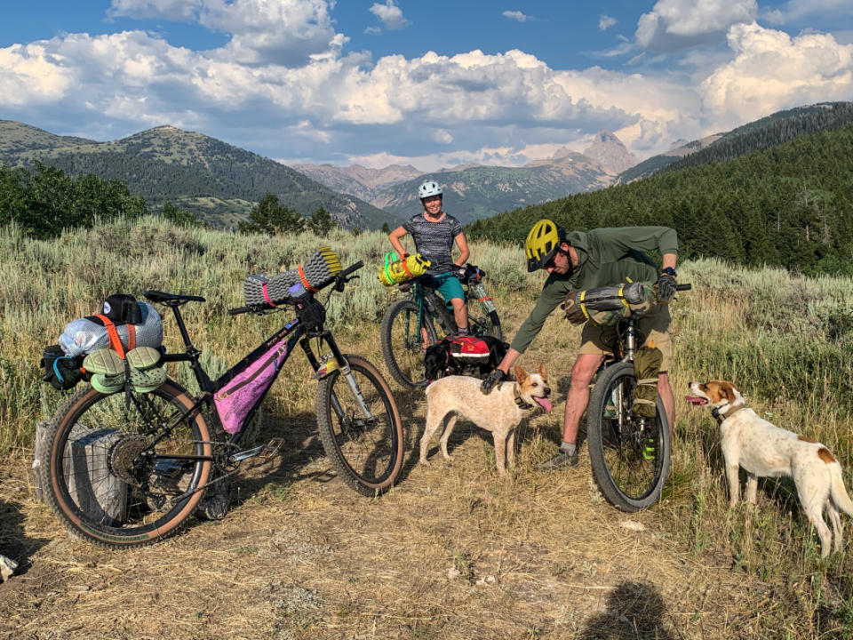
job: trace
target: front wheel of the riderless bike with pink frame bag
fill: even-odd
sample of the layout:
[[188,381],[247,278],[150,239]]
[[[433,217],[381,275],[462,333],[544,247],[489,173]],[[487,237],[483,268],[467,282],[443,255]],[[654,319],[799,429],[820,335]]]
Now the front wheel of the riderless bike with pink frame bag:
[[403,423],[379,370],[362,357],[345,357],[350,374],[336,369],[317,388],[320,440],[344,482],[378,495],[403,468]]

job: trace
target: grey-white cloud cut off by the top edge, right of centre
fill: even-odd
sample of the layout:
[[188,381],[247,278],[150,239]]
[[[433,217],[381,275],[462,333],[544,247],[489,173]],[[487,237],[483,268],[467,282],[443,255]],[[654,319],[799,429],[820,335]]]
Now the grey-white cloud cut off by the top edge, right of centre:
[[756,0],[658,0],[640,17],[634,37],[644,49],[678,51],[721,40],[731,25],[752,22],[757,13]]

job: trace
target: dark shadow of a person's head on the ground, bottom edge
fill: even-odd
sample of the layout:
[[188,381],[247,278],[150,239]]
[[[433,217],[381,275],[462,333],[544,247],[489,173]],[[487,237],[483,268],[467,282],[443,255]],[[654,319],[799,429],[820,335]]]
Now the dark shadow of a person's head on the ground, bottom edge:
[[606,611],[586,623],[581,640],[672,640],[663,624],[666,613],[658,589],[626,581],[610,592]]

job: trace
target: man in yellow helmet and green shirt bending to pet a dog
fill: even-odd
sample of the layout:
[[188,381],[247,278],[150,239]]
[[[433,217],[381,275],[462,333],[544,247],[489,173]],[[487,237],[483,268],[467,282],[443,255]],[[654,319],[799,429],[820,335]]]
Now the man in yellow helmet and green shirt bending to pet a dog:
[[[654,262],[645,254],[653,250],[658,250],[663,257],[660,274]],[[673,228],[600,228],[587,233],[573,231],[567,234],[552,220],[539,220],[530,229],[524,252],[527,255],[528,271],[544,268],[550,276],[539,294],[536,307],[515,334],[506,357],[498,364],[498,369],[482,381],[483,393],[490,393],[496,384],[506,378],[515,359],[530,346],[530,342],[542,329],[546,317],[570,292],[629,281],[657,280],[658,302],[669,302],[675,293],[678,236]],[[675,399],[667,375],[672,363],[669,324],[669,308],[666,304],[660,304],[648,316],[642,317],[637,327],[646,336],[647,342],[654,340],[663,353],[663,363],[658,373],[658,395],[672,430]],[[574,467],[578,464],[575,446],[578,424],[589,403],[590,380],[604,361],[604,356],[611,351],[613,331],[615,327],[597,326],[589,322],[584,324],[578,358],[571,368],[560,451],[539,465],[539,468]]]

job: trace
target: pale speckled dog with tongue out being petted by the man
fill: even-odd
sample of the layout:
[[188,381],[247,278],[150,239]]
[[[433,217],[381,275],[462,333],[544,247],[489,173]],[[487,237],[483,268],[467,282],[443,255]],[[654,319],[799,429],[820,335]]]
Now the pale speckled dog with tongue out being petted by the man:
[[442,455],[445,460],[453,460],[447,452],[447,441],[461,415],[491,431],[498,476],[505,476],[506,467],[512,467],[515,460],[515,428],[537,405],[551,411],[545,365],[539,364],[538,373],[529,374],[519,366],[513,371],[516,381],[504,382],[489,395],[480,390],[482,380],[469,376],[448,376],[430,384],[426,388],[426,430],[420,438],[420,463],[429,464],[426,449],[442,427]]

